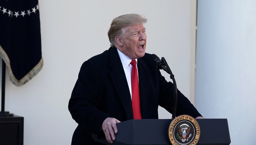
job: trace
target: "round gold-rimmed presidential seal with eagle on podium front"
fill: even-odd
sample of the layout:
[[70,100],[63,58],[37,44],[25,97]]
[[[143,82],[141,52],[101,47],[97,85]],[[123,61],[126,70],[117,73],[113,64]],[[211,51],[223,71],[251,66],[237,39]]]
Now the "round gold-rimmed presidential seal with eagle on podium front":
[[195,118],[180,115],[170,123],[168,136],[173,145],[196,145],[200,136],[200,127]]

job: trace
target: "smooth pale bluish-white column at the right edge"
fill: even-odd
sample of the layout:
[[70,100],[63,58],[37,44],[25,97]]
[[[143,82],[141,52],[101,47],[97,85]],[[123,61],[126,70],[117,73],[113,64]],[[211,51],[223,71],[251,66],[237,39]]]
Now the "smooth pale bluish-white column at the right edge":
[[198,1],[196,107],[227,118],[231,145],[255,145],[256,1]]

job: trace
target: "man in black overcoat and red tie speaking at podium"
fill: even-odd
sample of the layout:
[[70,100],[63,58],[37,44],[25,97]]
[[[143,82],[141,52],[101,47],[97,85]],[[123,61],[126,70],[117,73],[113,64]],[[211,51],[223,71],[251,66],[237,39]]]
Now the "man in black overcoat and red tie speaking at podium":
[[[174,89],[150,60],[146,50],[146,18],[126,14],[113,19],[108,31],[111,47],[85,61],[69,100],[78,123],[74,145],[100,145],[91,135],[112,143],[116,123],[158,119],[158,106],[172,113]],[[202,116],[178,91],[177,115]]]

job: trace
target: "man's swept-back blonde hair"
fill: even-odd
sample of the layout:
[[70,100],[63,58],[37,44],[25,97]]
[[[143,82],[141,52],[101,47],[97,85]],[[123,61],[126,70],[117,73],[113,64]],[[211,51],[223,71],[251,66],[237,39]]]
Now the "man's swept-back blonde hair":
[[110,46],[115,46],[115,37],[120,36],[125,27],[146,22],[147,19],[139,14],[125,14],[114,18],[108,31]]

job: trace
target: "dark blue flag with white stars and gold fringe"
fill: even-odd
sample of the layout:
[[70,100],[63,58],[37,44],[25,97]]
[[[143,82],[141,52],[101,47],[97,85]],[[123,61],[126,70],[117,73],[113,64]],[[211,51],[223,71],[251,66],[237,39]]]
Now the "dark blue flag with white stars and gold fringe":
[[16,86],[42,69],[38,0],[0,0],[0,55]]

